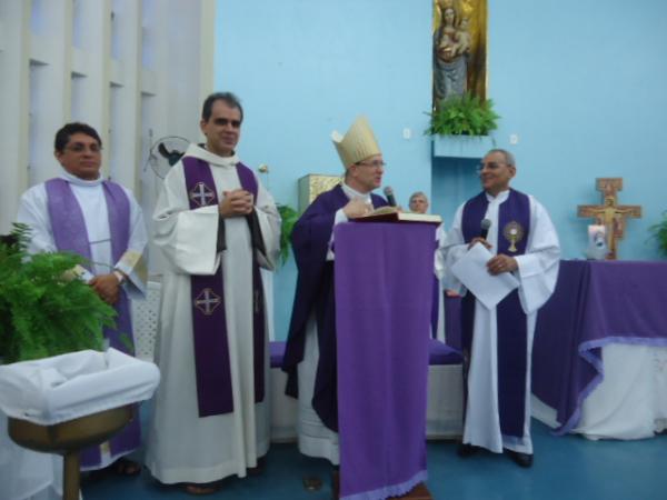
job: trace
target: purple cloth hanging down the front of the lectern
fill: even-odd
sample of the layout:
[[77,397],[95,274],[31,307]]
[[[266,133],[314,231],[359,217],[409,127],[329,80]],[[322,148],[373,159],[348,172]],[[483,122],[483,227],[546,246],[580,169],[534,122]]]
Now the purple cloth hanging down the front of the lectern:
[[335,229],[340,498],[401,496],[427,478],[435,227]]

